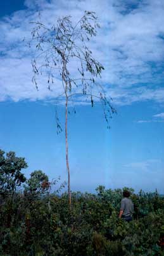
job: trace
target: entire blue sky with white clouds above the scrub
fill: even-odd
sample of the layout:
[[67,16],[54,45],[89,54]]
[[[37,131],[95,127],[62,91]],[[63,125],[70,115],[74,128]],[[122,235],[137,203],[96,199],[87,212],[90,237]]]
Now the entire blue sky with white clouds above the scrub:
[[[84,10],[96,11],[101,29],[91,43],[104,65],[101,83],[113,97],[117,115],[106,129],[99,103],[75,103],[68,136],[72,190],[94,192],[133,187],[164,194],[163,1],[26,0],[1,3],[0,148],[13,150],[28,162],[27,176],[42,169],[49,178],[66,180],[65,134],[56,134],[53,92],[31,82],[30,21],[37,11],[50,24],[62,15],[77,20]],[[103,16],[102,16],[103,13]],[[74,68],[74,67],[73,67]],[[72,103],[71,103],[72,104]],[[72,106],[72,105],[71,105]],[[58,115],[64,128],[63,102]]]

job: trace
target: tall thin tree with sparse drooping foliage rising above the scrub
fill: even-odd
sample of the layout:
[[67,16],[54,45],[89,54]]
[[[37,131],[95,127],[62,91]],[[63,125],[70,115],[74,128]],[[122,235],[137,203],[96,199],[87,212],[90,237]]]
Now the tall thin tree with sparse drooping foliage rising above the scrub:
[[[72,17],[66,16],[59,18],[56,25],[47,27],[39,20],[32,22],[32,40],[29,46],[34,46],[37,50],[32,59],[32,69],[34,76],[32,81],[37,90],[38,76],[43,75],[47,78],[47,88],[55,89],[55,78],[61,80],[61,92],[58,99],[65,100],[65,143],[66,143],[66,170],[68,173],[68,200],[71,207],[70,191],[70,166],[68,160],[68,101],[77,100],[77,97],[90,97],[91,106],[94,99],[99,99],[103,106],[104,118],[109,128],[109,118],[115,113],[115,108],[111,106],[107,99],[103,86],[96,81],[101,78],[101,71],[104,67],[94,59],[89,48],[89,41],[96,36],[99,28],[98,18],[92,11],[85,11],[78,22],[73,24]],[[53,85],[54,84],[54,85]],[[97,90],[97,91],[96,91]],[[62,128],[58,117],[57,132]]]

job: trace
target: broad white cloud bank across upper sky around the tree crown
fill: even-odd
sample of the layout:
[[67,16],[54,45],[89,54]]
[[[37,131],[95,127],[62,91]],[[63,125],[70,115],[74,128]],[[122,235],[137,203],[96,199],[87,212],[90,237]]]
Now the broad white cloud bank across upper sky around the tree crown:
[[[96,11],[101,30],[91,48],[105,67],[102,83],[115,104],[152,100],[164,102],[163,35],[164,6],[157,0],[26,0],[27,10],[16,11],[0,21],[0,101],[47,99],[61,93],[56,77],[53,93],[41,81],[39,92],[32,85],[31,50],[22,39],[30,37],[30,21],[41,11],[46,24],[63,15],[78,20],[84,10]],[[74,67],[73,67],[74,68]]]

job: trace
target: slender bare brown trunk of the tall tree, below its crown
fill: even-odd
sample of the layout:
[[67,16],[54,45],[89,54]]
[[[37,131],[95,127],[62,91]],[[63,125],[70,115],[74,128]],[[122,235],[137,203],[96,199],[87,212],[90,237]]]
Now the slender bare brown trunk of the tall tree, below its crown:
[[65,145],[66,145],[66,171],[68,173],[68,203],[71,209],[71,191],[70,191],[70,166],[68,160],[68,97],[66,97],[65,103]]

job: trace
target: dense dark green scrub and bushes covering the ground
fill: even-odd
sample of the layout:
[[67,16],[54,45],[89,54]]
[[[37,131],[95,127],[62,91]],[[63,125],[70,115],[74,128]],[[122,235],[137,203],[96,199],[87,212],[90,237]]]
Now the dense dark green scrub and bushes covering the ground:
[[66,193],[50,193],[42,171],[26,180],[25,167],[24,159],[0,152],[0,255],[164,255],[164,199],[157,192],[134,194],[129,188],[135,213],[127,223],[118,218],[121,189],[72,193],[70,211]]

